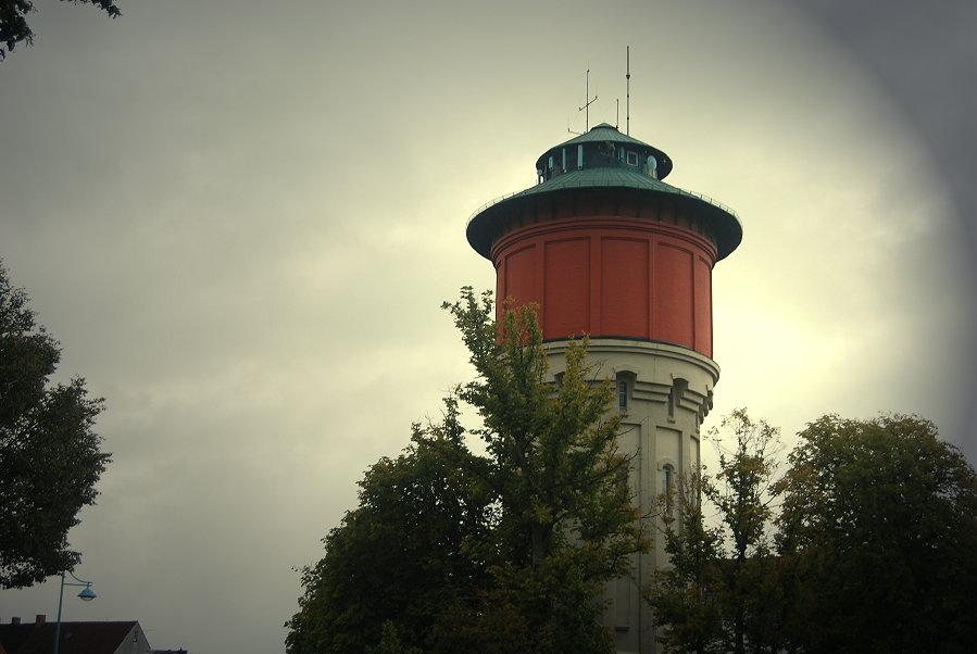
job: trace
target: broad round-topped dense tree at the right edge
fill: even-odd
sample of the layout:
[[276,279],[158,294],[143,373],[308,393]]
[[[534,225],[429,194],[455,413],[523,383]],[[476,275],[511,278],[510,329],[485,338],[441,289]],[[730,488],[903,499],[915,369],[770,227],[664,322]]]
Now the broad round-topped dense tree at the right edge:
[[[977,642],[977,475],[932,423],[827,415],[778,482],[791,645],[970,652]],[[788,587],[788,590],[791,590]]]

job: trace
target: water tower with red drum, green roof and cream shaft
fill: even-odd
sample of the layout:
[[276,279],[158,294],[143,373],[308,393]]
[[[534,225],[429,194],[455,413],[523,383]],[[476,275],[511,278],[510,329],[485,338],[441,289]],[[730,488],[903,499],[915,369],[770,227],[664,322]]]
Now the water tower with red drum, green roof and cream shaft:
[[[590,335],[591,361],[616,381],[621,448],[634,456],[642,513],[699,465],[719,378],[712,271],[742,238],[729,209],[662,181],[671,171],[664,152],[601,124],[547,150],[536,186],[479,210],[467,227],[496,267],[497,298],[539,304],[552,375],[568,339]],[[608,590],[618,652],[657,649],[639,583],[667,561],[661,540]]]

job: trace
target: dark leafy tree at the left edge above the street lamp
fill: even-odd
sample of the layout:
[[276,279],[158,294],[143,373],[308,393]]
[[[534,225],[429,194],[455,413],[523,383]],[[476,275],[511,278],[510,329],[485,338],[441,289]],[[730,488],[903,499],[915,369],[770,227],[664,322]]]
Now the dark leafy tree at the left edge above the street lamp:
[[49,386],[61,350],[35,324],[22,289],[0,265],[0,587],[23,588],[71,570],[77,513],[93,504],[109,454],[95,418],[101,399],[85,380]]

